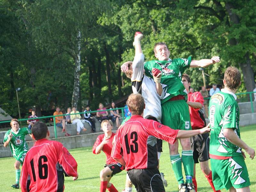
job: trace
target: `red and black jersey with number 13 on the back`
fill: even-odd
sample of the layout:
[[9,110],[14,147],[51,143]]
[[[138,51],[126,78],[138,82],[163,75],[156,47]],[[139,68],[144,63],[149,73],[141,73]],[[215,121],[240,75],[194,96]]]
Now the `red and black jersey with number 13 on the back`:
[[114,159],[122,158],[120,152],[123,148],[125,170],[155,168],[158,165],[158,160],[157,156],[154,161],[150,159],[149,154],[154,152],[150,151],[152,148],[149,147],[148,137],[155,136],[173,144],[178,132],[179,130],[173,130],[157,121],[133,115],[116,131],[116,142],[111,156]]

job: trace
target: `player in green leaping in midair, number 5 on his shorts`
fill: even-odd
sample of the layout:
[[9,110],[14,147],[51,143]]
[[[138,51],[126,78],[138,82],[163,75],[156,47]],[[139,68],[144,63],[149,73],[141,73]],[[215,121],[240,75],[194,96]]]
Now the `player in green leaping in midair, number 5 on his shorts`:
[[[155,57],[144,63],[145,74],[151,78],[152,68],[158,68],[162,72],[161,84],[165,92],[164,99],[161,100],[162,123],[172,129],[191,130],[190,117],[188,111],[187,91],[181,81],[181,75],[189,67],[207,67],[220,61],[217,56],[211,59],[191,60],[178,58],[170,59],[170,51],[166,44],[156,43],[154,46]],[[194,169],[193,152],[190,146],[190,138],[180,139],[182,147],[181,157],[178,152],[179,143],[169,144],[170,159],[175,178],[179,184],[180,192],[194,192],[192,176]],[[186,185],[182,175],[182,165],[186,174]]]

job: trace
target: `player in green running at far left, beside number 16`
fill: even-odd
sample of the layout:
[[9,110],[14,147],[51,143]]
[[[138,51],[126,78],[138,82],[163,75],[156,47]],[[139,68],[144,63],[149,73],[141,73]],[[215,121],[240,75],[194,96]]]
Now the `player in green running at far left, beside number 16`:
[[18,189],[20,188],[20,165],[23,164],[28,151],[25,137],[28,134],[31,136],[31,132],[28,128],[20,128],[17,119],[12,119],[10,124],[12,129],[8,130],[4,135],[4,147],[7,147],[10,144],[12,155],[16,159],[14,163],[16,183],[12,185],[12,188]]

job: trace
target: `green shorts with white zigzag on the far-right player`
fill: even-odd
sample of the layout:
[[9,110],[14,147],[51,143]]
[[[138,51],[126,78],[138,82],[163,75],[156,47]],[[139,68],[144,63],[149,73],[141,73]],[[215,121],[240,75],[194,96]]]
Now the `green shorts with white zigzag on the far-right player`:
[[235,156],[229,159],[212,159],[212,181],[216,190],[232,186],[244,188],[251,185],[244,157]]

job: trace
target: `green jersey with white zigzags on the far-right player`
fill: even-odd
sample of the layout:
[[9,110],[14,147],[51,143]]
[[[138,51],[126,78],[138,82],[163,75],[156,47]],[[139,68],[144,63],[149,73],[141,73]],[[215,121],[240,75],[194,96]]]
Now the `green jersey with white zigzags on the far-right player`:
[[229,142],[223,135],[223,129],[232,128],[240,138],[239,108],[236,95],[226,89],[221,89],[221,92],[212,95],[209,103],[209,120],[211,127],[210,154],[226,157],[241,155],[241,148]]

